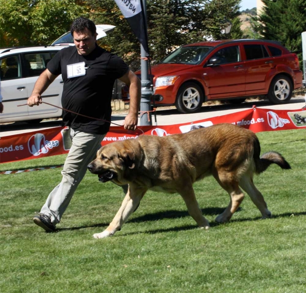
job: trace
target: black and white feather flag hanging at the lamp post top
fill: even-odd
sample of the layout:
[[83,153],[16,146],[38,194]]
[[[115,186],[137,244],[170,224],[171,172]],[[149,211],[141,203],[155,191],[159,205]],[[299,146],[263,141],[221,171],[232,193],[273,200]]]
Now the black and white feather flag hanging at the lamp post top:
[[143,48],[149,55],[147,28],[142,0],[115,0]]

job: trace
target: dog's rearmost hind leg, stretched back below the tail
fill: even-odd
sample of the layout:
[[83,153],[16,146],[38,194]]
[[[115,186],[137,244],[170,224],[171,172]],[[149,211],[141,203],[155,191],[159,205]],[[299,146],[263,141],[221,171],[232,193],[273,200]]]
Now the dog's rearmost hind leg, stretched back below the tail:
[[271,218],[271,212],[268,210],[263,195],[255,187],[253,178],[248,173],[242,176],[239,185],[249,195],[252,202],[258,207],[258,209],[262,214],[263,219]]

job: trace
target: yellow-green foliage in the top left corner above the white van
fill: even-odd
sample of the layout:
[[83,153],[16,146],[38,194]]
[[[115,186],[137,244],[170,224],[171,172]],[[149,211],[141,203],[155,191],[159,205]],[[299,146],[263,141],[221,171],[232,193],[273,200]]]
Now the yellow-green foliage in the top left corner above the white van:
[[74,0],[0,0],[0,7],[1,47],[48,45],[87,11]]

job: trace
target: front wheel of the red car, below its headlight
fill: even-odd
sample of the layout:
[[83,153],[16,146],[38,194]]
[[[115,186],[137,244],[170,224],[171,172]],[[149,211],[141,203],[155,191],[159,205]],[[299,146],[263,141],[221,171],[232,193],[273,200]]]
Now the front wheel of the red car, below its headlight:
[[201,88],[194,83],[184,84],[177,92],[175,106],[181,113],[197,112],[203,103],[203,92]]

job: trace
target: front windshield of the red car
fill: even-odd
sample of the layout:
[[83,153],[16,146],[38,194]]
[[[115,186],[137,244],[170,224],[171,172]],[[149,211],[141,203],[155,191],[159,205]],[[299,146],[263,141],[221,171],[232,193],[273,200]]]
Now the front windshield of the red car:
[[210,46],[181,47],[168,55],[161,63],[199,64],[212,48]]

